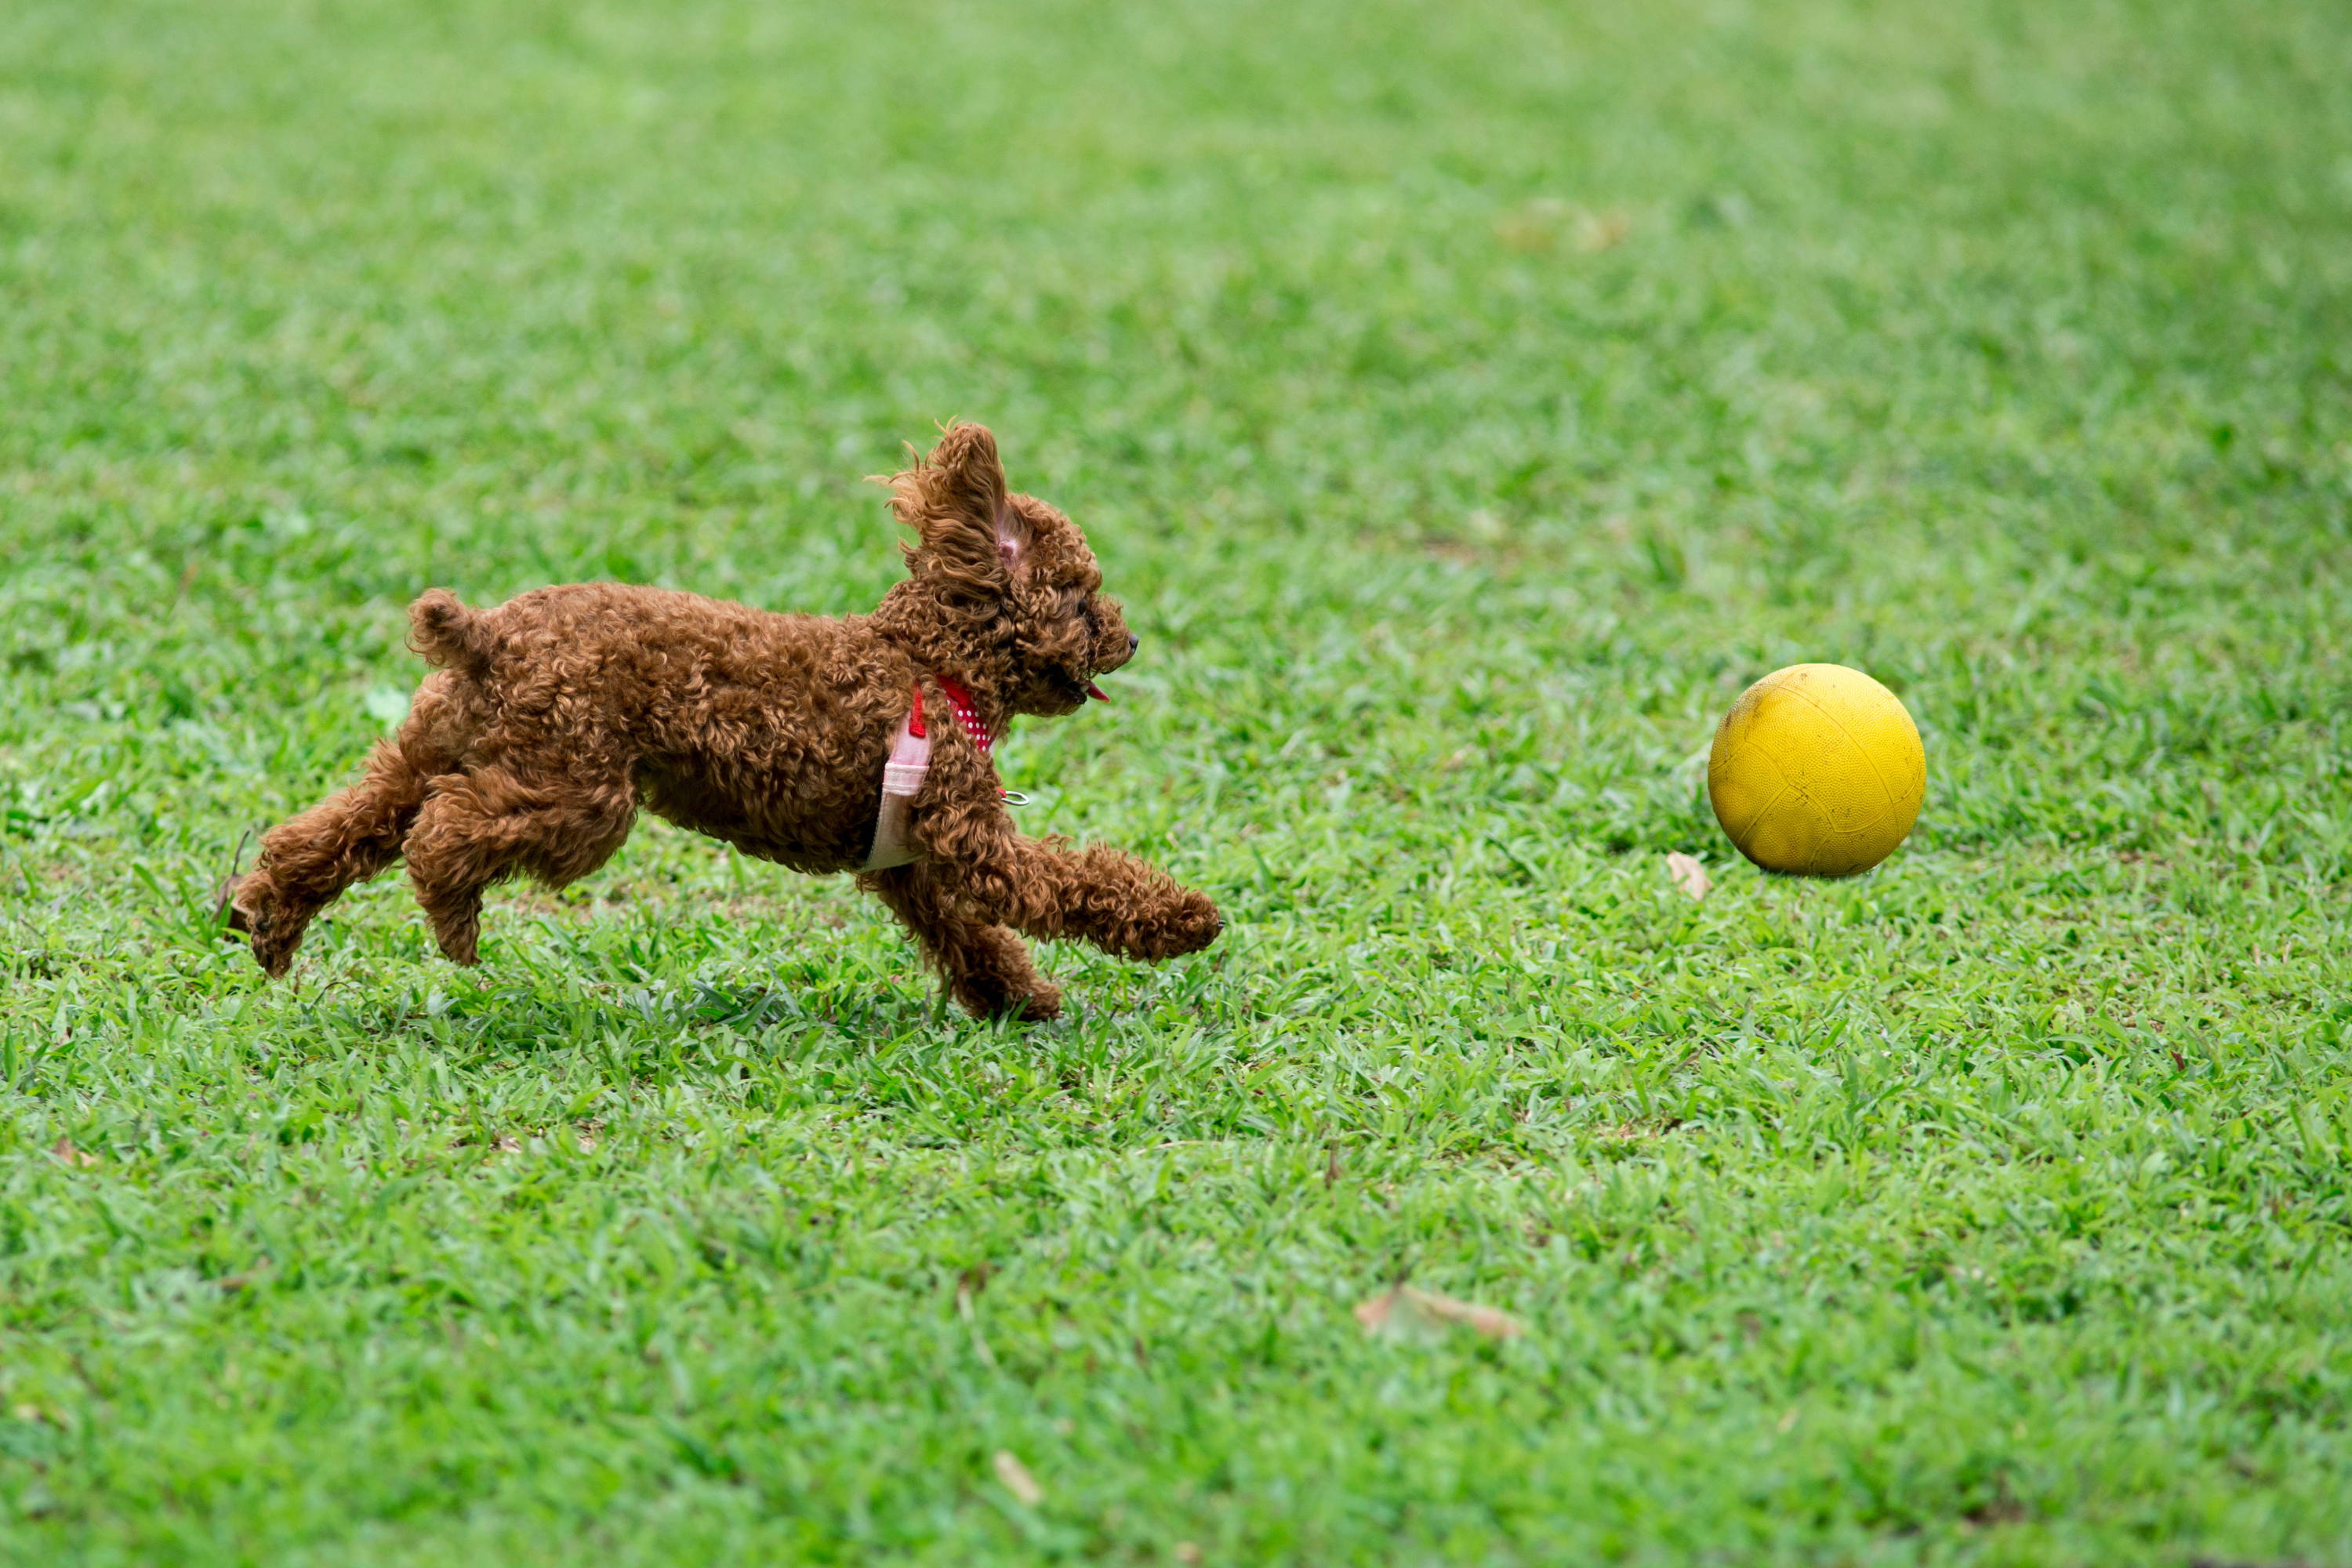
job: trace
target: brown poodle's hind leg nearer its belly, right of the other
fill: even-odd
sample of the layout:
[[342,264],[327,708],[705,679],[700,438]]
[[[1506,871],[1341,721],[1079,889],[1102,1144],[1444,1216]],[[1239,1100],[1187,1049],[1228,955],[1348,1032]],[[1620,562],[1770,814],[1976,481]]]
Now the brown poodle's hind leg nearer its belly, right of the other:
[[440,950],[456,964],[477,961],[482,889],[515,872],[548,886],[579,882],[621,849],[635,818],[626,776],[536,783],[473,769],[435,778],[405,853]]

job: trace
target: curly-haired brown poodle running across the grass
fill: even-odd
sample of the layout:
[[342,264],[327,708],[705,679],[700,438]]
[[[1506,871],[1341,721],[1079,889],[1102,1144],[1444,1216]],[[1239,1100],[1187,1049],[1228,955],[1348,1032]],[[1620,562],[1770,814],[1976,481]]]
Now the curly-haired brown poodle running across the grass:
[[353,882],[407,858],[445,954],[475,961],[482,889],[600,867],[644,806],[804,872],[858,872],[974,1013],[1051,1018],[1030,936],[1131,959],[1197,952],[1216,905],[1117,849],[1014,832],[988,750],[1016,712],[1077,712],[1136,637],[1087,538],[1004,489],[953,425],[891,480],[920,536],[870,616],[776,616],[663,588],[541,588],[496,609],[433,590],[437,665],[353,788],[273,827],[228,884],[270,976]]

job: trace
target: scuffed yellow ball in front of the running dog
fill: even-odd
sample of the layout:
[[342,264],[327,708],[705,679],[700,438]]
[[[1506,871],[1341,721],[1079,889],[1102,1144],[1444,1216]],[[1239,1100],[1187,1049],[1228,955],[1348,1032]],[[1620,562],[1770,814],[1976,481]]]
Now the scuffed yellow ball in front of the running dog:
[[1773,670],[1717,726],[1708,799],[1740,853],[1769,872],[1867,872],[1919,820],[1919,726],[1860,670]]

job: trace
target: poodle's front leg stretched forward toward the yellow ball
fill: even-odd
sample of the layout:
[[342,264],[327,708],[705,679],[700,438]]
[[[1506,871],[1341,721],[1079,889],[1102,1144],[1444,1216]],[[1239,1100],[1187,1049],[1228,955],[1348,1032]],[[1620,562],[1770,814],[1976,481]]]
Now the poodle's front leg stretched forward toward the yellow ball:
[[1103,844],[1025,839],[993,797],[920,813],[915,837],[960,900],[1028,936],[1075,936],[1122,959],[1174,959],[1225,929],[1207,893],[1157,865]]

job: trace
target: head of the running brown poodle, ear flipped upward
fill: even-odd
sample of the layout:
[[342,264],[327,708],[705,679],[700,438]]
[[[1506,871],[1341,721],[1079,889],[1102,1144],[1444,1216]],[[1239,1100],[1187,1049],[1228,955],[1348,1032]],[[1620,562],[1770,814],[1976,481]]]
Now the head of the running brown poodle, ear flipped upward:
[[1136,637],[1077,524],[1007,489],[985,425],[950,425],[889,487],[917,543],[884,618],[931,644],[917,658],[988,686],[1004,712],[1077,712],[1103,696],[1094,677],[1134,658]]

